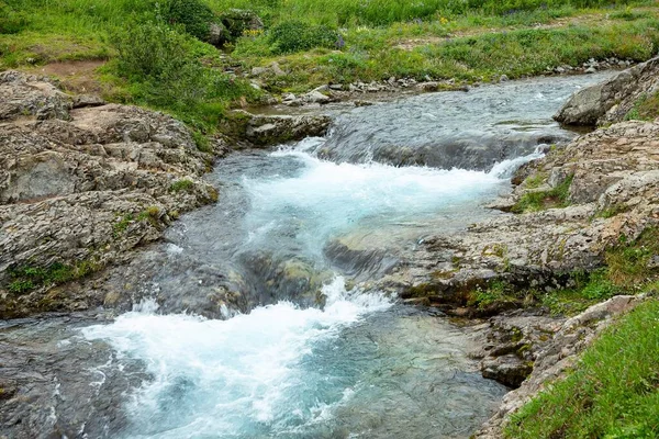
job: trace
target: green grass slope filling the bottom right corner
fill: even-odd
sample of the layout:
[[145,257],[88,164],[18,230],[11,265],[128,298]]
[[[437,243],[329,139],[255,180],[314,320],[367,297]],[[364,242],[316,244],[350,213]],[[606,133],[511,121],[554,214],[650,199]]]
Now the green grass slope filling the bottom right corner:
[[659,437],[659,301],[639,305],[568,376],[512,417],[507,438]]

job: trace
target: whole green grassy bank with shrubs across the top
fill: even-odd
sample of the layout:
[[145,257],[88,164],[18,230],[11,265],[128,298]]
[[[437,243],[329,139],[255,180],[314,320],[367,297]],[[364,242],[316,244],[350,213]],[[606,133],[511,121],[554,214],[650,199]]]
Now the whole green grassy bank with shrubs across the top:
[[[516,78],[591,57],[644,60],[659,48],[654,3],[0,0],[0,69],[101,59],[108,63],[92,80],[107,99],[164,110],[209,132],[226,109],[259,100],[242,74],[273,61],[284,74],[256,80],[279,93],[392,76]],[[254,10],[265,29],[223,50],[200,41],[208,21],[231,8]]]

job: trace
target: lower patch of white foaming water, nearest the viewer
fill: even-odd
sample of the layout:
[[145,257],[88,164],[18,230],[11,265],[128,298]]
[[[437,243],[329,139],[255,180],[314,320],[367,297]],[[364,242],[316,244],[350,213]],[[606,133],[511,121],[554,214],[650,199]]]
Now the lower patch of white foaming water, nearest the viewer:
[[271,436],[327,418],[349,396],[331,383],[340,375],[310,373],[305,361],[345,327],[391,306],[380,294],[346,291],[342,278],[323,293],[324,309],[279,302],[228,320],[158,315],[145,301],[82,334],[143,360],[153,374],[129,407],[126,437]]

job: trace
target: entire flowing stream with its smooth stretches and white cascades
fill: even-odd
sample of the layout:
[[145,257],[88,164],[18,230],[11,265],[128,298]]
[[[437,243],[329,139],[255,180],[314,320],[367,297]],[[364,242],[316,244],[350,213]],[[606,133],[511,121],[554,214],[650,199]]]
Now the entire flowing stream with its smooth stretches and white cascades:
[[496,215],[515,167],[573,136],[551,114],[601,79],[338,110],[327,138],[222,160],[220,202],[126,268],[132,312],[0,327],[16,358],[53,356],[33,365],[56,392],[35,419],[90,438],[468,437],[506,392],[477,372],[473,331],[364,285]]

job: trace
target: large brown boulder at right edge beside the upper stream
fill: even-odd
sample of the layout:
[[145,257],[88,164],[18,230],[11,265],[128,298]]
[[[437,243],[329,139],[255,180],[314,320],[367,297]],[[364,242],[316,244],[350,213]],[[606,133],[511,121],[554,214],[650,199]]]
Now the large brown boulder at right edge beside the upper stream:
[[566,125],[621,122],[644,94],[659,91],[659,57],[576,92],[554,119]]

